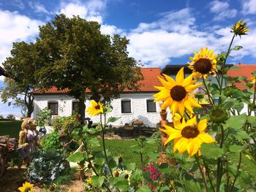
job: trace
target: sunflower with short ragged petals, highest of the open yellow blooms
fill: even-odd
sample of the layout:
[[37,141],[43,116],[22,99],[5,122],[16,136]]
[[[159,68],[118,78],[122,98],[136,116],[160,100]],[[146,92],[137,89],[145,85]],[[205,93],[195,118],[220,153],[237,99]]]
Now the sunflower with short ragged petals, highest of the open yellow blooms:
[[214,77],[217,74],[217,56],[214,55],[214,50],[208,51],[208,47],[205,49],[201,48],[199,53],[194,52],[194,58],[189,57],[192,61],[189,64],[189,69],[197,78],[208,78],[210,74]]

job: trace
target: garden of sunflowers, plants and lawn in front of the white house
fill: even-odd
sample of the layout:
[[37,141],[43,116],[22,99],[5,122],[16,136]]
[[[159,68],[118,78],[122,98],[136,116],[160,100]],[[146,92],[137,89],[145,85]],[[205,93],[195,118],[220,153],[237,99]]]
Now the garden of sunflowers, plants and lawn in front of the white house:
[[[159,77],[162,86],[156,87],[154,101],[161,107],[160,128],[151,137],[107,139],[115,129],[108,125],[119,117],[109,117],[113,108],[108,99],[99,97],[83,111],[99,116],[92,125],[81,113],[74,113],[55,118],[53,131],[45,134],[48,109],[39,113],[37,122],[26,118],[18,153],[9,162],[7,176],[2,176],[7,182],[3,190],[255,191],[256,72],[252,78],[231,78],[227,71],[237,67],[226,64],[233,52],[243,48],[233,47],[233,40],[248,32],[246,22],[239,20],[231,27],[227,52],[215,55],[214,50],[202,48],[189,58],[192,74],[188,77],[183,67],[175,79],[166,74]],[[239,90],[235,82],[244,83],[246,89]],[[207,97],[207,112],[200,105],[198,88]],[[248,110],[241,113],[244,104]]]

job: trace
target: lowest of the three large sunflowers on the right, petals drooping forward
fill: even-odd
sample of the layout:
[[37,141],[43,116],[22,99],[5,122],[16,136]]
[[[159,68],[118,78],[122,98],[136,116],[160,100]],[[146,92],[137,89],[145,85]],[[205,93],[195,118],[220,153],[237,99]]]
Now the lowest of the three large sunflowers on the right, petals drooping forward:
[[200,120],[200,122],[197,123],[196,117],[194,117],[187,120],[187,122],[183,119],[182,123],[176,124],[175,128],[165,126],[166,129],[161,128],[160,130],[169,136],[165,145],[167,145],[170,140],[174,139],[173,153],[175,153],[176,150],[178,150],[179,153],[187,151],[189,156],[192,157],[197,152],[200,155],[199,148],[203,142],[215,142],[214,138],[205,133],[206,127],[206,119]]

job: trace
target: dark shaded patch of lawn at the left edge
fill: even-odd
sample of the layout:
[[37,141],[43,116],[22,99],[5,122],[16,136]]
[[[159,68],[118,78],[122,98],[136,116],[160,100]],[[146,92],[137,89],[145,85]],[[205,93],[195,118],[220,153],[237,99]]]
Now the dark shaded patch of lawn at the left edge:
[[10,135],[18,139],[22,120],[1,120],[0,135]]

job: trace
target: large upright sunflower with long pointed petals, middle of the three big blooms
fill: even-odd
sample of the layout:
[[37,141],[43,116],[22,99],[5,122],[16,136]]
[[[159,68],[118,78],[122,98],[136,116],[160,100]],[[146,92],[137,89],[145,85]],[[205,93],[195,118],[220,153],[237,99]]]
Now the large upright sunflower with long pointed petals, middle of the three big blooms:
[[172,77],[164,75],[165,79],[158,77],[162,82],[163,87],[155,86],[159,90],[159,93],[154,94],[154,101],[164,101],[161,109],[170,107],[173,115],[176,111],[184,114],[184,110],[187,109],[189,112],[193,112],[192,107],[201,107],[197,104],[195,99],[192,98],[192,91],[198,88],[201,84],[193,85],[195,80],[192,80],[192,74],[184,79],[184,67],[182,67],[176,75],[176,81]]

